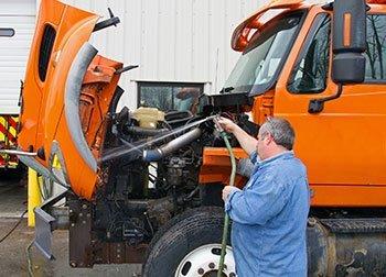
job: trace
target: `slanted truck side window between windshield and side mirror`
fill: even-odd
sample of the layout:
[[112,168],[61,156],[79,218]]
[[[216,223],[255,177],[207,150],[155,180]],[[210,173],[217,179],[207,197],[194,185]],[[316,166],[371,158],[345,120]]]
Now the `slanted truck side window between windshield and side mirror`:
[[329,73],[331,20],[319,14],[288,81],[293,93],[318,93],[325,89]]

